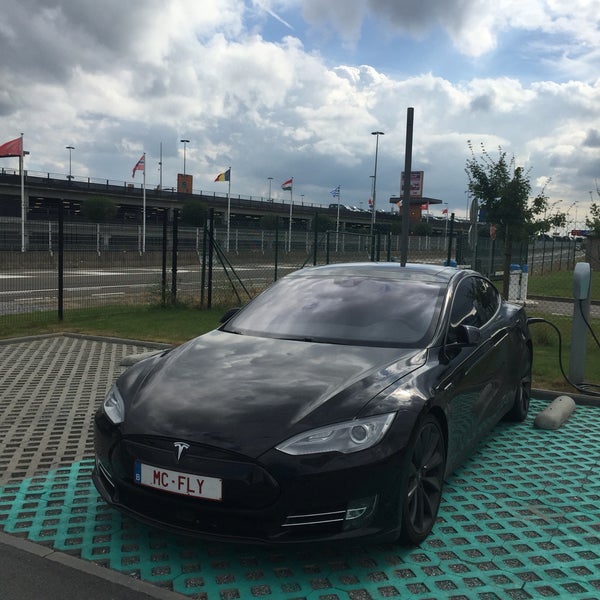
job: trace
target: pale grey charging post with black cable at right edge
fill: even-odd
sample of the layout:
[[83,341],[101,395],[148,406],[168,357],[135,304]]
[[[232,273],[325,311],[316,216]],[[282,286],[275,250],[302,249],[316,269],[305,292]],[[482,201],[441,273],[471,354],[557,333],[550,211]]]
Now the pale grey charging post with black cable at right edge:
[[569,379],[576,384],[584,381],[586,321],[590,315],[592,270],[589,263],[580,262],[573,272],[573,329],[571,334],[571,357]]

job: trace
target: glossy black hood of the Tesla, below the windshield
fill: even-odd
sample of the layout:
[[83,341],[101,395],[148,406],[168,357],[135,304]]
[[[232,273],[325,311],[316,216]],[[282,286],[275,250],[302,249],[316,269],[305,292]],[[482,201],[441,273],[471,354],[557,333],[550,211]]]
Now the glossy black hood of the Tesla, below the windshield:
[[121,432],[176,437],[257,457],[296,433],[354,418],[424,360],[422,350],[216,330],[120,377]]

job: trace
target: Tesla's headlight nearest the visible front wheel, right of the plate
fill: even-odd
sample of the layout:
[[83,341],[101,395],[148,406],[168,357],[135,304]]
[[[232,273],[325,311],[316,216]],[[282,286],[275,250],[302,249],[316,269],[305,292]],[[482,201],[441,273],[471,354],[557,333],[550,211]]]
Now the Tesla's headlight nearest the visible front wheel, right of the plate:
[[276,449],[293,455],[359,452],[381,440],[392,424],[395,414],[375,415],[311,429],[282,442]]

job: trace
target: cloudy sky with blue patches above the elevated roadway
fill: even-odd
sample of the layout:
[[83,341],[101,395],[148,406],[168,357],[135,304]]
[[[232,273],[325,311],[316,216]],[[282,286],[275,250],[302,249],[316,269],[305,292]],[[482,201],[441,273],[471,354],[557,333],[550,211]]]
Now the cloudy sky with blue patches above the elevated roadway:
[[[425,195],[465,214],[468,141],[583,225],[600,183],[600,0],[4,0],[0,142],[26,168],[366,207],[400,191],[407,108]],[[17,159],[0,159],[14,168]],[[577,202],[575,205],[574,203]],[[440,214],[441,208],[432,208]]]

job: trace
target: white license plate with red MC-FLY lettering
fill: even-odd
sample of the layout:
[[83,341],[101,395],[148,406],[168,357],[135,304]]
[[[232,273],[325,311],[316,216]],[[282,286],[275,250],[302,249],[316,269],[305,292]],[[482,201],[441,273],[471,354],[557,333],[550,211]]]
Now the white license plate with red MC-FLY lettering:
[[207,500],[222,500],[223,480],[191,473],[180,473],[170,469],[152,467],[142,462],[135,463],[134,480],[140,485]]

